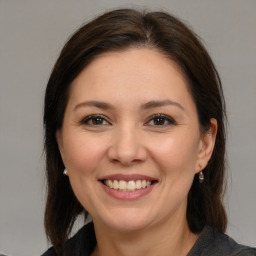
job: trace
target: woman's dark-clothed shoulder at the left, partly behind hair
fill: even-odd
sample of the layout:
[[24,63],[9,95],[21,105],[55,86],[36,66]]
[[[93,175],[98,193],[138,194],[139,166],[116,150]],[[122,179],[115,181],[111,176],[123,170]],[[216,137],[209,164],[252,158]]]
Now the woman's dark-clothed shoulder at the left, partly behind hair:
[[[96,245],[93,223],[90,222],[81,228],[65,245],[65,255],[90,255]],[[51,247],[41,256],[56,256],[55,249]]]

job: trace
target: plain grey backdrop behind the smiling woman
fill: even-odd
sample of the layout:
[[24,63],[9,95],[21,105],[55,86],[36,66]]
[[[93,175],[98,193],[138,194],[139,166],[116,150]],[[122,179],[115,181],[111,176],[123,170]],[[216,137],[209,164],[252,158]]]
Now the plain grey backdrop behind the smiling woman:
[[40,255],[43,94],[68,36],[117,7],[178,15],[202,37],[227,100],[228,234],[256,246],[256,0],[0,0],[0,252]]

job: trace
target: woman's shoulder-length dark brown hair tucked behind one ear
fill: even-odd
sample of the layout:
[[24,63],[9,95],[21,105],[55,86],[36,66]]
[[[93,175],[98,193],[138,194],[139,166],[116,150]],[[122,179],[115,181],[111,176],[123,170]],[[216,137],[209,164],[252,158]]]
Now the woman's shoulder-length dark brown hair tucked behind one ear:
[[139,12],[131,9],[103,14],[82,26],[69,39],[49,78],[44,106],[47,202],[45,230],[58,253],[68,239],[74,221],[86,209],[76,199],[55,134],[61,128],[69,88],[78,74],[98,55],[128,47],[158,49],[174,60],[188,80],[202,131],[210,119],[218,122],[213,155],[204,170],[205,182],[194,178],[188,195],[187,220],[192,232],[210,225],[224,232],[227,225],[222,204],[225,171],[225,103],[219,75],[198,37],[174,16],[163,12]]

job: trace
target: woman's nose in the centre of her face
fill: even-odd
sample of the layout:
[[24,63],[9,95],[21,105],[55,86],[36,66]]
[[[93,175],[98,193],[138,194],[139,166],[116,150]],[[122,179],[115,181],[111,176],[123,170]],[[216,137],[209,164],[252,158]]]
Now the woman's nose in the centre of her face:
[[116,130],[108,149],[108,158],[126,166],[145,161],[147,150],[142,134],[134,127]]

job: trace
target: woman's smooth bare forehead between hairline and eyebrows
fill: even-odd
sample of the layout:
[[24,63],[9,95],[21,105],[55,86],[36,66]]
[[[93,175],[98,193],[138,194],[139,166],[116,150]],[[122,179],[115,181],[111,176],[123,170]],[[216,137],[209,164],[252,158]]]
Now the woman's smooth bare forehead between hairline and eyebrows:
[[164,96],[181,102],[191,98],[179,66],[158,50],[147,48],[101,54],[77,76],[70,91],[76,101],[162,100]]

